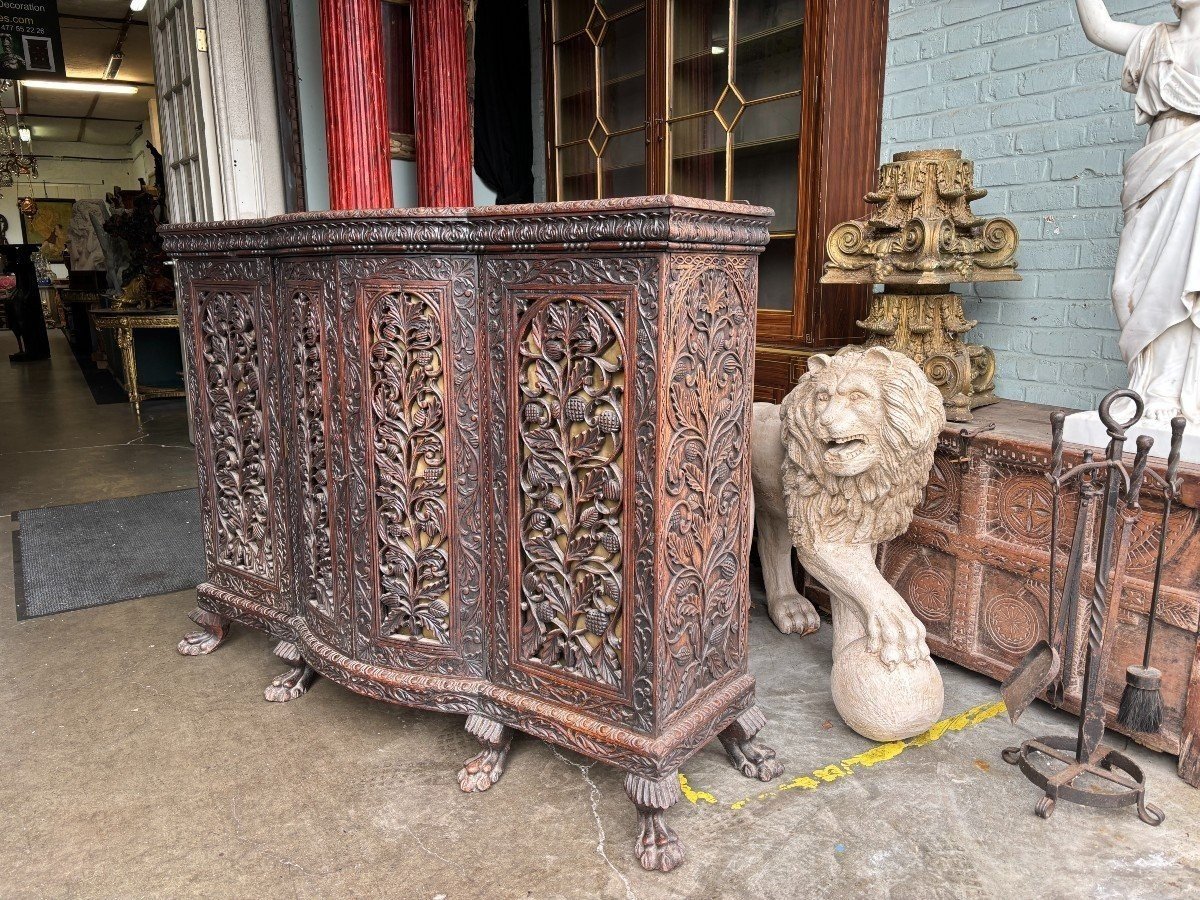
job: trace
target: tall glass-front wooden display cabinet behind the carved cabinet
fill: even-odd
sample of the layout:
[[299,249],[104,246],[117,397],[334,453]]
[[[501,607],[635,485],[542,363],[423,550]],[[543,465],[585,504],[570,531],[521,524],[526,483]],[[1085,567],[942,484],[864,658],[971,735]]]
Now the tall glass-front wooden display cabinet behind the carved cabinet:
[[818,283],[866,211],[886,0],[545,0],[550,199],[678,193],[775,210],[760,259],[756,392],[860,340],[866,292]]

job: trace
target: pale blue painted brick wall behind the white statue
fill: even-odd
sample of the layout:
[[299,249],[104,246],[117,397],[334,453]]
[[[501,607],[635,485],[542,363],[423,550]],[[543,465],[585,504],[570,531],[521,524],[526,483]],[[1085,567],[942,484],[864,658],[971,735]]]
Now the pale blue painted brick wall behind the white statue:
[[[1174,19],[1166,0],[1114,17]],[[1024,281],[965,288],[968,340],[996,352],[1001,396],[1092,408],[1127,383],[1109,300],[1121,169],[1141,146],[1123,58],[1084,37],[1072,0],[890,0],[884,160],[948,146],[989,191],[977,214],[1021,235]]]

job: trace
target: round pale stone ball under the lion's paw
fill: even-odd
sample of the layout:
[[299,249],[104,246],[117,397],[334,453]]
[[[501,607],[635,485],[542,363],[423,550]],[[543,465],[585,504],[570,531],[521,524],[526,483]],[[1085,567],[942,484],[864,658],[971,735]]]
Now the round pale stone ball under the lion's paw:
[[851,728],[871,740],[902,740],[930,728],[942,715],[942,676],[932,660],[888,670],[866,638],[847,646],[833,662],[833,703]]

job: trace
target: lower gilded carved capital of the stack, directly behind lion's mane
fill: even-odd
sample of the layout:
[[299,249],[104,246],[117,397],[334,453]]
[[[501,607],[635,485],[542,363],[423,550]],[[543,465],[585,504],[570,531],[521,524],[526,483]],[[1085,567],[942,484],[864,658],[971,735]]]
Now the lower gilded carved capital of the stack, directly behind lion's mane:
[[946,418],[971,421],[971,410],[996,402],[996,358],[961,337],[976,322],[962,314],[962,298],[938,288],[911,287],[871,296],[866,318],[869,347],[886,347],[913,360],[942,392]]

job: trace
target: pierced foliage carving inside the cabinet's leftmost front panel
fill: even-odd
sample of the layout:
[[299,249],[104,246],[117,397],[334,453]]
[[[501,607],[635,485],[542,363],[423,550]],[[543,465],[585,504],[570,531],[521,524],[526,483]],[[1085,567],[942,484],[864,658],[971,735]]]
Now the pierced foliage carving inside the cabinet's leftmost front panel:
[[212,431],[217,562],[272,580],[275,547],[254,299],[250,293],[218,290],[203,293],[198,301],[204,392]]

